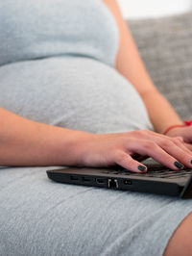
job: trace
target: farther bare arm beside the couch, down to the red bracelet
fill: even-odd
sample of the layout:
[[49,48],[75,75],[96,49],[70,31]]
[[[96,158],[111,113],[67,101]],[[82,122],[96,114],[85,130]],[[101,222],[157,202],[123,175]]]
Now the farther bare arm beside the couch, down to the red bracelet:
[[142,97],[155,131],[162,133],[170,125],[182,123],[180,116],[153,84],[118,4],[115,0],[103,1],[113,13],[119,28],[120,43],[116,69],[132,83]]

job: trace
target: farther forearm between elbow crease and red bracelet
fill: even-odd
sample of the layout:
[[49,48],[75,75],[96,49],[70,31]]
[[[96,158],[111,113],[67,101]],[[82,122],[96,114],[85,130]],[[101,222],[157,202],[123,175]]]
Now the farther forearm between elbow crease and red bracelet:
[[171,125],[183,123],[168,100],[157,90],[146,91],[141,97],[157,133],[163,133]]

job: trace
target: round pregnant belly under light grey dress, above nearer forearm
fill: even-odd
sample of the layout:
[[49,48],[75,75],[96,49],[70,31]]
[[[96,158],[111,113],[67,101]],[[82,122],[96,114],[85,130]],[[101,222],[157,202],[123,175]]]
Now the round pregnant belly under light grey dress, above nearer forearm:
[[0,67],[0,107],[27,118],[93,133],[153,130],[132,85],[114,68],[82,57]]

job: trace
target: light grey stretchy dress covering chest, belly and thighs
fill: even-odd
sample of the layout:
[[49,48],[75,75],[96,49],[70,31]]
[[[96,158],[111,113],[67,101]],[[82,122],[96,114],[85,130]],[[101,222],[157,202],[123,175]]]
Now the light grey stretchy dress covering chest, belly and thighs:
[[[117,31],[101,1],[7,0],[0,24],[0,107],[94,133],[153,130],[138,93],[112,67]],[[48,168],[60,166],[0,168],[1,256],[158,256],[191,212],[191,200],[58,184]]]

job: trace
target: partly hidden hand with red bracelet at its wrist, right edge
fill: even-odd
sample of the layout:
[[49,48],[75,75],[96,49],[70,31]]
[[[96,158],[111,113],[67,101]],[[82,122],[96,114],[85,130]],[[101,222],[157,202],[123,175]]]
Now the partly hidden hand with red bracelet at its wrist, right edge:
[[181,137],[184,145],[192,151],[192,125],[186,127],[175,127],[167,134],[169,137]]

